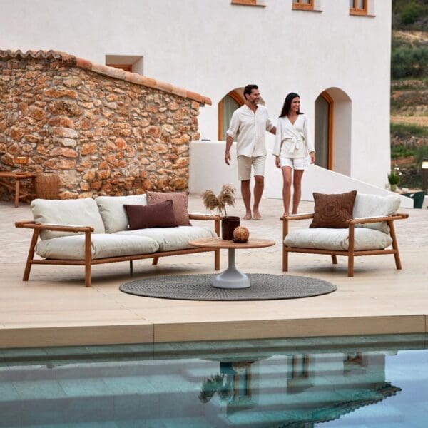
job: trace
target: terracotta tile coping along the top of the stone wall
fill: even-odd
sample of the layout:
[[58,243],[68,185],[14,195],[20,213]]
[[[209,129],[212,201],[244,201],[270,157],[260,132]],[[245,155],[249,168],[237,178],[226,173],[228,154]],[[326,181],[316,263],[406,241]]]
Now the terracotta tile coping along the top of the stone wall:
[[130,73],[128,71],[123,71],[120,68],[103,66],[101,64],[92,63],[84,58],[79,58],[78,56],[73,56],[66,54],[66,52],[61,51],[26,51],[21,50],[17,51],[2,51],[0,50],[0,58],[10,59],[10,58],[46,58],[46,59],[60,59],[63,63],[66,63],[70,66],[76,66],[79,68],[84,68],[86,70],[93,71],[94,73],[103,74],[103,76],[108,76],[111,78],[118,78],[123,81],[128,81],[131,83],[136,83],[142,86],[148,86],[148,88],[156,88],[159,91],[173,93],[174,95],[181,96],[183,98],[190,98],[191,100],[198,101],[201,104],[211,105],[210,98],[200,95],[199,93],[186,91],[184,88],[178,86],[173,86],[170,83],[165,83],[157,81],[153,78],[146,76],[141,76],[138,73]]

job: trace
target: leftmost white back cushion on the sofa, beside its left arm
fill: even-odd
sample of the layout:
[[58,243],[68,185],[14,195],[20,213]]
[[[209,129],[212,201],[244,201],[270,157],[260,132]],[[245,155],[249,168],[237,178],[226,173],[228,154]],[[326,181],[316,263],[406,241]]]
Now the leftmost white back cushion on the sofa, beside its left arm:
[[[103,220],[101,219],[96,202],[91,198],[66,200],[34,199],[31,202],[31,212],[36,223],[91,226],[94,229],[93,233],[105,232]],[[40,238],[45,240],[68,235],[75,235],[75,233],[42,230]]]

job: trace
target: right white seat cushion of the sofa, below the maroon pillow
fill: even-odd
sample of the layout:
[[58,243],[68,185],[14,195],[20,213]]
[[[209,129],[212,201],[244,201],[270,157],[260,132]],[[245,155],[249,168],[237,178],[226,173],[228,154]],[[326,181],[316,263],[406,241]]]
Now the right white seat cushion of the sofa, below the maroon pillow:
[[159,244],[159,251],[183,250],[192,248],[188,241],[198,238],[211,238],[215,235],[212,230],[199,226],[178,226],[178,228],[151,228],[128,230],[115,235],[138,235],[153,238]]

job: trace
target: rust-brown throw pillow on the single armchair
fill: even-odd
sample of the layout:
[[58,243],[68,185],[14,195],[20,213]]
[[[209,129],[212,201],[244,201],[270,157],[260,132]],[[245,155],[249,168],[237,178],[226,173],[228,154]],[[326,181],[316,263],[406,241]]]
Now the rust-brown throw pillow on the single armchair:
[[315,200],[314,219],[310,228],[347,228],[352,219],[357,190],[348,193],[323,195],[313,193]]

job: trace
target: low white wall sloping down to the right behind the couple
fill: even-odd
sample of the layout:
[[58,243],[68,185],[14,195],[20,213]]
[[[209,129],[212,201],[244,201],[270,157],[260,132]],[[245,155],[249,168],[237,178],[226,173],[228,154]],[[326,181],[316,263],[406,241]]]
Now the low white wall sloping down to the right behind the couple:
[[[238,165],[236,162],[236,146],[233,143],[230,154],[232,163],[225,164],[225,141],[191,141],[189,166],[189,191],[200,194],[210,189],[218,192],[223,184],[231,184],[240,192]],[[342,193],[357,190],[360,193],[373,195],[396,195],[389,190],[335,173],[316,165],[310,165],[305,171],[302,181],[302,200],[313,200],[312,193]],[[282,198],[282,174],[275,166],[272,151],[267,150],[265,170],[264,198]],[[402,208],[413,208],[413,200],[399,195]]]

